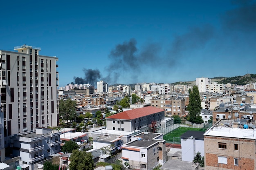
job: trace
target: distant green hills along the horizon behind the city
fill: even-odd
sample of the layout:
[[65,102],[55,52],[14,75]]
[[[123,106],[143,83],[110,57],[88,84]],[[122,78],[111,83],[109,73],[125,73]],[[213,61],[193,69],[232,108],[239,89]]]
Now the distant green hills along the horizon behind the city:
[[[219,84],[238,84],[238,85],[245,85],[249,83],[255,83],[256,82],[256,74],[246,74],[246,75],[239,75],[236,77],[213,77],[210,78],[211,82],[218,82]],[[171,83],[172,85],[177,85],[177,84],[184,84],[187,86],[194,86],[195,81],[190,81],[190,82],[175,82]],[[113,84],[111,86],[118,86],[120,84]],[[134,87],[136,84],[121,84],[121,85],[128,85],[131,87]]]

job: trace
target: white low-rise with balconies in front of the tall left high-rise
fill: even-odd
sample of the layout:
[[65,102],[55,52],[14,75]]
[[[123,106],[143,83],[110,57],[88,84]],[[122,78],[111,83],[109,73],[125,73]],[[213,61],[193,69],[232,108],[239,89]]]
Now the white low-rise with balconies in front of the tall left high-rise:
[[20,156],[20,165],[34,170],[34,164],[61,151],[61,131],[36,128],[11,136],[13,157]]

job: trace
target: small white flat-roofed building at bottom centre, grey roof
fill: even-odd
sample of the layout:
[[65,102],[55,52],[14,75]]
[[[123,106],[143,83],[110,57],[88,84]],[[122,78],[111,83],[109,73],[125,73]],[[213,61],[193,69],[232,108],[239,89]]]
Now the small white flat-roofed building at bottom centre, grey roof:
[[166,141],[159,133],[139,133],[122,149],[123,162],[128,162],[132,169],[152,170],[166,162]]

